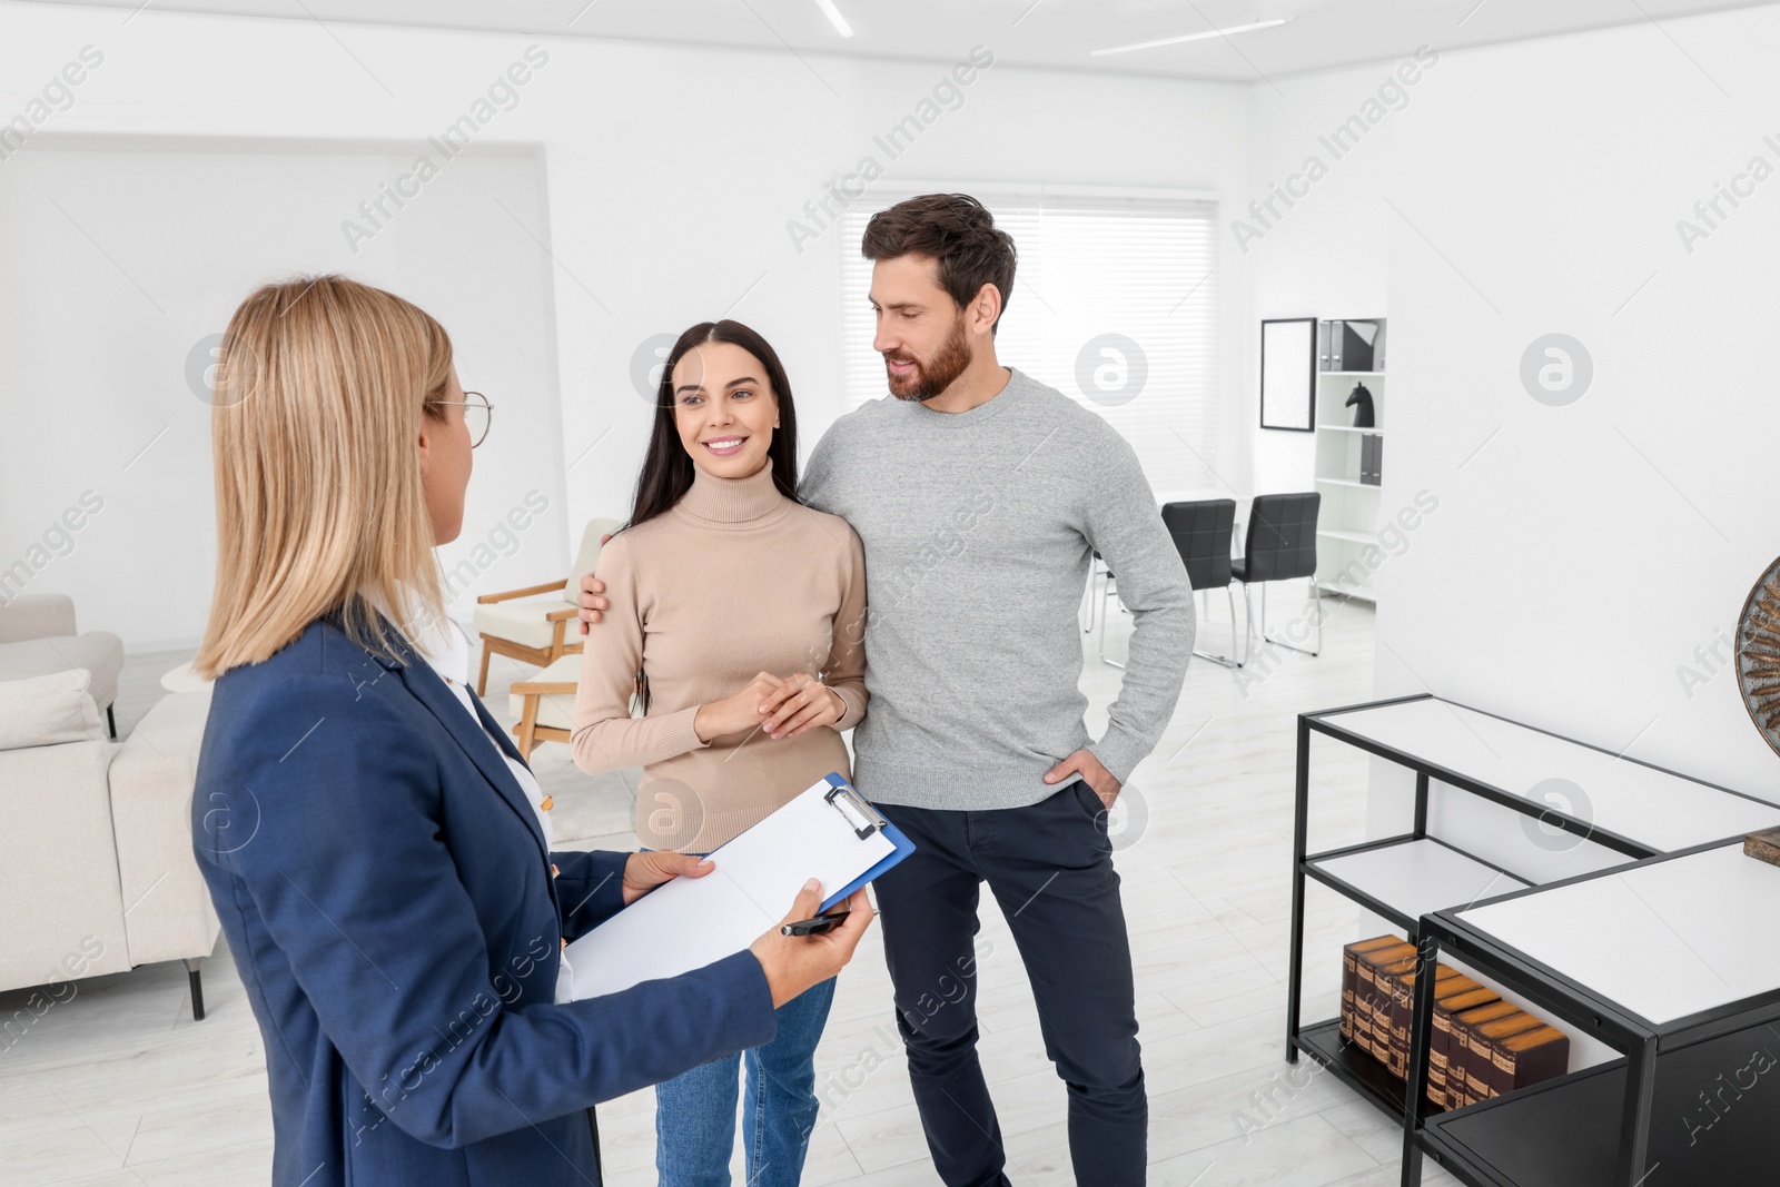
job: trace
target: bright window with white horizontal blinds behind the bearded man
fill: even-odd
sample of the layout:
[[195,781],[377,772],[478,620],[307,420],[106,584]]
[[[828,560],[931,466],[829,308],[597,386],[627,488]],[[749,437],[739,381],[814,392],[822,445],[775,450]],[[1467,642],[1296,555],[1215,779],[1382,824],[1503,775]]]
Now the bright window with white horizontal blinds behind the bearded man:
[[[1105,416],[1137,450],[1157,495],[1216,486],[1216,203],[972,192],[1020,253],[995,343],[1002,365]],[[842,215],[849,409],[888,392],[870,345],[872,263],[858,244],[876,210],[908,196],[874,194],[870,210]]]

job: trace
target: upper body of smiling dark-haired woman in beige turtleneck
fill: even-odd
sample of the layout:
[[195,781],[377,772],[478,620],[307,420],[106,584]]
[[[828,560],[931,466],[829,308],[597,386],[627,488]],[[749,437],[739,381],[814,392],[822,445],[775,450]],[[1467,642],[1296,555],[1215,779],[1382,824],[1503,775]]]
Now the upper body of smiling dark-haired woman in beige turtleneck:
[[[865,553],[846,520],[785,495],[796,422],[767,374],[776,359],[705,342],[669,361],[637,511],[691,484],[600,553],[612,609],[582,653],[573,747],[582,771],[643,767],[643,845],[708,852],[847,774],[838,731],[865,714]],[[639,669],[648,712],[632,717]]]

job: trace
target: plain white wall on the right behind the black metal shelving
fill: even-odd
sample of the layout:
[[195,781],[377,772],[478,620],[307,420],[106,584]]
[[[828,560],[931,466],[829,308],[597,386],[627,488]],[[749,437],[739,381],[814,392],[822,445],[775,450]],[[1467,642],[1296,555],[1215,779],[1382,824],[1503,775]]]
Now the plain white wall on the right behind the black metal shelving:
[[[1759,7],[1440,53],[1408,103],[1251,244],[1251,324],[1390,319],[1381,502],[1428,491],[1438,511],[1376,573],[1378,696],[1433,690],[1780,801],[1780,763],[1727,651],[1716,673],[1696,657],[1732,634],[1780,552],[1768,495],[1780,182],[1725,206],[1691,253],[1677,231],[1753,155],[1780,171],[1762,141],[1780,139],[1762,117],[1776,110],[1764,57],[1776,43],[1780,11]],[[1383,75],[1283,80],[1289,100],[1257,84],[1257,192]],[[1565,408],[1536,402],[1518,374],[1547,333],[1593,358],[1590,390]],[[1253,356],[1244,340],[1250,406]],[[1258,434],[1257,489],[1310,470],[1307,443]],[[1686,689],[1682,666],[1703,683]],[[1374,787],[1374,833],[1403,828],[1403,783]],[[1522,842],[1504,828],[1488,844],[1524,865]],[[1598,856],[1581,847],[1572,861]]]

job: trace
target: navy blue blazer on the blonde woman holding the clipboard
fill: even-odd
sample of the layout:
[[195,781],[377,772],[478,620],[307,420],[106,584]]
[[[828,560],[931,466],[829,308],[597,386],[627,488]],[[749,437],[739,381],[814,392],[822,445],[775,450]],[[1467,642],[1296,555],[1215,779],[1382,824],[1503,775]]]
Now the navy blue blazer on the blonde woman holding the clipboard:
[[765,975],[739,952],[557,1005],[627,854],[546,852],[484,730],[404,658],[317,621],[215,682],[192,847],[265,1038],[272,1183],[596,1183],[586,1109],[769,1041]]

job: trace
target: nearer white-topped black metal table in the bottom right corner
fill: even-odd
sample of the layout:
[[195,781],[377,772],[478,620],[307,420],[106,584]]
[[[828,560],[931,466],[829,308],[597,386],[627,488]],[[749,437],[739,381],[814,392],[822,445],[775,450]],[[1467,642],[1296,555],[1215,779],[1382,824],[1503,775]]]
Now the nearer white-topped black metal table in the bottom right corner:
[[[1424,970],[1445,950],[1625,1059],[1438,1116],[1412,1091],[1403,1183],[1420,1182],[1424,1151],[1501,1187],[1773,1182],[1776,922],[1780,867],[1741,842],[1424,918]],[[1412,1086],[1426,1084],[1433,981],[1417,977]]]

